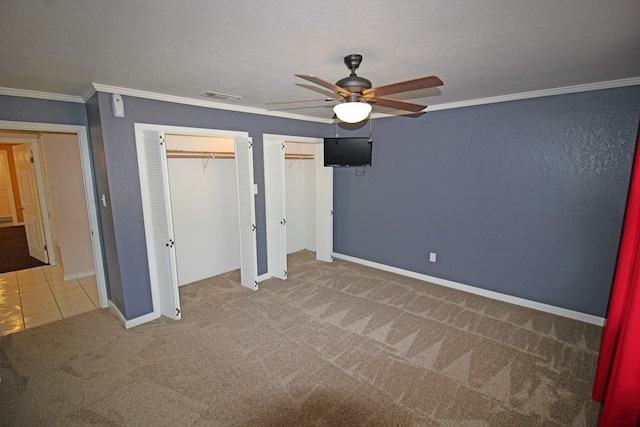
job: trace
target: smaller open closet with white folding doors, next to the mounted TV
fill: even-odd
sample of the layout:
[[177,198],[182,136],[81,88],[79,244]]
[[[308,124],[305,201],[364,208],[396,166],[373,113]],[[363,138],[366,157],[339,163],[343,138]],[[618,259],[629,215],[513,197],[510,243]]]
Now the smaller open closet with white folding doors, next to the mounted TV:
[[323,139],[264,135],[269,275],[287,277],[287,254],[302,249],[330,262],[333,252],[333,169]]

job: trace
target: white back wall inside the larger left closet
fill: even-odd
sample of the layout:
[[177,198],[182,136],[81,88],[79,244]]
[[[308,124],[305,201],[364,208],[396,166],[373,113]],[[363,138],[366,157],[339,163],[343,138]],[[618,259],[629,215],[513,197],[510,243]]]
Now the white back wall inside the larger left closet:
[[[233,139],[166,135],[167,150],[231,151]],[[180,286],[240,268],[233,159],[168,158]]]

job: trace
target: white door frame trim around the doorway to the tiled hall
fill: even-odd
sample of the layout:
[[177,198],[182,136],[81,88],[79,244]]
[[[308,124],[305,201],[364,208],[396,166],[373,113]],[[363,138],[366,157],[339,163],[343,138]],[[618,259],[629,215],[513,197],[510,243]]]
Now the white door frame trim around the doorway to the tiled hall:
[[[89,217],[89,226],[91,228],[91,246],[93,248],[93,263],[96,270],[96,282],[98,284],[98,299],[101,308],[109,306],[109,297],[107,293],[107,280],[104,269],[103,252],[102,252],[102,233],[98,222],[98,205],[95,192],[95,178],[93,176],[93,168],[91,162],[91,147],[89,145],[89,134],[86,126],[64,125],[56,123],[39,123],[39,122],[21,122],[0,120],[0,129],[6,130],[23,130],[32,132],[65,132],[73,133],[78,137],[78,145],[80,148],[80,164],[82,167],[82,176],[84,183],[84,193],[86,200],[87,214]],[[34,151],[36,174],[42,174],[42,166],[39,156]],[[45,221],[47,222],[47,221]],[[46,228],[46,227],[45,227]],[[50,236],[49,236],[50,238]],[[50,242],[48,242],[50,243]]]

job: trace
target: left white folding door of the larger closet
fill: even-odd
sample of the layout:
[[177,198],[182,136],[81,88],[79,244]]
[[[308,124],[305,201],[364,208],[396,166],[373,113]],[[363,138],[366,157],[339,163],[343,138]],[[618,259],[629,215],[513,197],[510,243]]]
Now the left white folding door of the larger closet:
[[[152,286],[157,286],[160,313],[171,319],[180,319],[180,294],[171,218],[171,197],[164,135],[158,131],[144,132],[144,155],[147,191],[151,221],[145,221],[147,250],[150,251],[149,273]],[[144,202],[144,201],[143,201]],[[143,203],[144,205],[145,203]],[[154,306],[156,303],[154,302]]]

